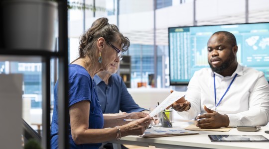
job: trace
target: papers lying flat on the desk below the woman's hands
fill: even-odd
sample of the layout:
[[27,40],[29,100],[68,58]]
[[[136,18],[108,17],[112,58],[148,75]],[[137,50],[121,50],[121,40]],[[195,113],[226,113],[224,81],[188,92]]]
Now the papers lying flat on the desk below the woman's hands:
[[139,135],[143,138],[154,138],[154,137],[167,137],[167,136],[182,136],[182,135],[194,135],[199,132],[185,130],[180,127],[175,128],[151,128],[145,130],[143,135]]

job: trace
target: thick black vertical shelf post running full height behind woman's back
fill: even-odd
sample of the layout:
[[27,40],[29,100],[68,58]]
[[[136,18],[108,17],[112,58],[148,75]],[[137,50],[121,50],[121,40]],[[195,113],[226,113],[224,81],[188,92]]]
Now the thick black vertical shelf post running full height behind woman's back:
[[59,78],[58,78],[58,125],[59,125],[59,149],[69,149],[68,134],[68,23],[67,0],[59,1]]

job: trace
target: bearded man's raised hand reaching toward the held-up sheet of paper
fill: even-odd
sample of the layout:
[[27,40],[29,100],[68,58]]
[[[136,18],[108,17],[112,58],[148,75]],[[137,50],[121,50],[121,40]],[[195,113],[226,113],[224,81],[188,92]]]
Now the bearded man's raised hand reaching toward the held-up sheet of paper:
[[[173,90],[171,90],[170,92],[172,93]],[[176,111],[179,111],[179,112],[187,111],[190,109],[190,102],[185,100],[184,97],[181,97],[176,102],[174,102],[173,104],[168,106],[166,109],[169,109],[170,107],[172,107],[173,109],[175,109]]]

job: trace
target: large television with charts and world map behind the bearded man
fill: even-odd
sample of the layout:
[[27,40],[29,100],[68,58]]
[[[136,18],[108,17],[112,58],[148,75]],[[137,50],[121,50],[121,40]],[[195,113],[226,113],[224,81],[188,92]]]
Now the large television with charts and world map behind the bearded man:
[[237,61],[264,72],[269,81],[269,22],[169,27],[170,85],[187,85],[195,71],[209,67],[207,41],[216,31],[237,39]]

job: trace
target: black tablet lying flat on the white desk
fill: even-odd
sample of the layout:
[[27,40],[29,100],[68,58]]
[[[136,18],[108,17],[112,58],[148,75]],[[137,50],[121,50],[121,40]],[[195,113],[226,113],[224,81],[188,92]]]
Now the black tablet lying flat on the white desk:
[[208,135],[211,142],[269,142],[263,135]]

